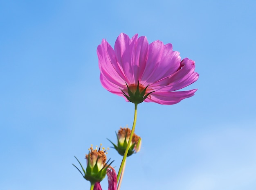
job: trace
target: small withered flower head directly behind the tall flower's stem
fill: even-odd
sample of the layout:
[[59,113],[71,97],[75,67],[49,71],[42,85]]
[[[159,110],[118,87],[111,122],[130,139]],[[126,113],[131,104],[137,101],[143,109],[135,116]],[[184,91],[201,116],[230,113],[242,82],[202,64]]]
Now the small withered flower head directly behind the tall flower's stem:
[[[116,133],[117,145],[108,139],[121,156],[124,156],[124,152],[126,150],[128,140],[130,138],[130,134],[131,134],[131,130],[128,127],[126,128],[120,127],[118,133]],[[141,138],[134,133],[132,135],[132,142],[130,144],[127,156],[130,156],[133,153],[139,152],[140,146],[141,146]]]

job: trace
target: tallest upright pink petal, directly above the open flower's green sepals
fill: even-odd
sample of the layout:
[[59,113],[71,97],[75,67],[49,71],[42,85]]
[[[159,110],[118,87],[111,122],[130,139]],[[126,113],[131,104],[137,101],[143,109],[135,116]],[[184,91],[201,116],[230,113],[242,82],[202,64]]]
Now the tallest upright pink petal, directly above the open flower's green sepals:
[[148,41],[145,36],[134,35],[132,39],[121,33],[115,42],[117,62],[123,68],[126,82],[135,84],[139,81],[148,57]]

